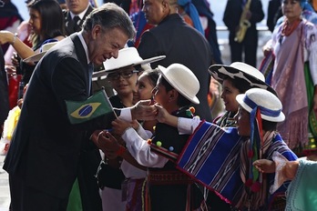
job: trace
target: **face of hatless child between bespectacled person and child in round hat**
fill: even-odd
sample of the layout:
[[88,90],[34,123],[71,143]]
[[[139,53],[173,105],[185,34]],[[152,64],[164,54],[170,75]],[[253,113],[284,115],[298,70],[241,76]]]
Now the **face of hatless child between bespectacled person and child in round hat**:
[[142,74],[138,77],[138,100],[148,100],[152,97],[154,86],[150,83],[147,74]]

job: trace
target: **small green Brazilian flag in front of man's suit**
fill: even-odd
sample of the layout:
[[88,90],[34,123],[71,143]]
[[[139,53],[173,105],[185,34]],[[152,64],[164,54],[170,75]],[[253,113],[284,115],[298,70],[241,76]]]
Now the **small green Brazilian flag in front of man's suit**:
[[97,116],[114,112],[104,89],[85,101],[67,101],[67,114],[71,124],[87,122]]

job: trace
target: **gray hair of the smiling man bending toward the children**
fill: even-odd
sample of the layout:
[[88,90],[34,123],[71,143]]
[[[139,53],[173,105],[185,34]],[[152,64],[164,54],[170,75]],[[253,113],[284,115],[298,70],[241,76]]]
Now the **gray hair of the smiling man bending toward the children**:
[[126,11],[114,3],[106,3],[94,9],[86,18],[83,29],[90,32],[95,25],[101,25],[102,30],[120,28],[128,39],[136,36],[136,29]]

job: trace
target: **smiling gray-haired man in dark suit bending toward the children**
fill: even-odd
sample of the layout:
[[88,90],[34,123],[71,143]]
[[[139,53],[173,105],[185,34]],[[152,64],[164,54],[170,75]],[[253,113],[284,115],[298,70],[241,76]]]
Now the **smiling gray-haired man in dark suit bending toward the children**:
[[[65,101],[87,100],[90,64],[117,57],[134,36],[122,8],[102,5],[87,16],[81,32],[60,41],[38,62],[5,158],[12,210],[66,210],[85,137],[89,130],[105,128],[113,116],[71,125]],[[137,110],[131,115],[140,114]]]

